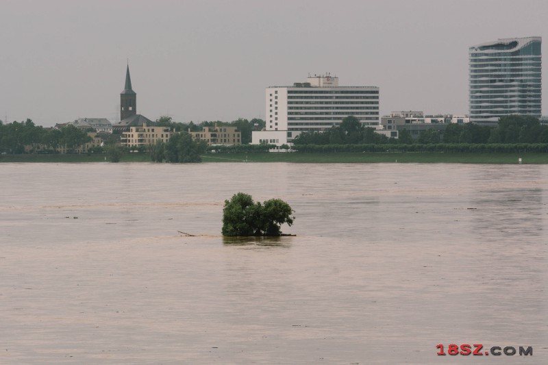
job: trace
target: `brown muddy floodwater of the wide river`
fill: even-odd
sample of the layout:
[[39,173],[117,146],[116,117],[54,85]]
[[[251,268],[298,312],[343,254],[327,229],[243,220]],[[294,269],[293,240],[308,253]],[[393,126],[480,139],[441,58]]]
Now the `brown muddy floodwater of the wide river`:
[[[547,165],[0,164],[0,187],[2,364],[548,364]],[[239,191],[297,236],[222,238]]]

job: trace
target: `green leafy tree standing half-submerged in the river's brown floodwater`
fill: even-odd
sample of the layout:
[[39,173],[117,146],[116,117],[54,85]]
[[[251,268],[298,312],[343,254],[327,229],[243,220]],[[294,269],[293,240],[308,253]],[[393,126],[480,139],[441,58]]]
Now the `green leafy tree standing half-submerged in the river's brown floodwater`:
[[223,208],[223,236],[281,236],[280,226],[293,224],[293,210],[282,199],[255,202],[249,194],[238,192]]

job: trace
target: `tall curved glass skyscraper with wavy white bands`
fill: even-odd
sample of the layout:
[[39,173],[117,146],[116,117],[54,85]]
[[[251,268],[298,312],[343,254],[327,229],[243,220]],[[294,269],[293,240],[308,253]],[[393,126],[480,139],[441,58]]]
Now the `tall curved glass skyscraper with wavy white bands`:
[[540,118],[541,42],[508,38],[469,48],[471,122],[493,125],[510,114]]

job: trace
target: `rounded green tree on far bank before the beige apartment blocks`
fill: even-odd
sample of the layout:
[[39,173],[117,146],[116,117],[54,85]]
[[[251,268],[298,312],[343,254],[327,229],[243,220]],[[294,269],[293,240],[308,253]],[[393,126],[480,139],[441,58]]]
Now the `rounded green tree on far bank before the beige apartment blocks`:
[[207,143],[193,140],[192,136],[181,131],[174,134],[164,146],[164,158],[167,162],[201,162],[200,155],[206,151]]

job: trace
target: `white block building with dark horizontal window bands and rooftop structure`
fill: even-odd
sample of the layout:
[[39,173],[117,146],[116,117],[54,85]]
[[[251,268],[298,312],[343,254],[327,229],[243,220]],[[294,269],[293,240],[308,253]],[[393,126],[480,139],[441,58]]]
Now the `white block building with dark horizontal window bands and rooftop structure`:
[[338,86],[338,77],[329,74],[309,76],[293,86],[271,86],[265,99],[266,131],[286,131],[288,142],[302,131],[339,125],[347,116],[356,116],[364,127],[379,125],[379,88]]

